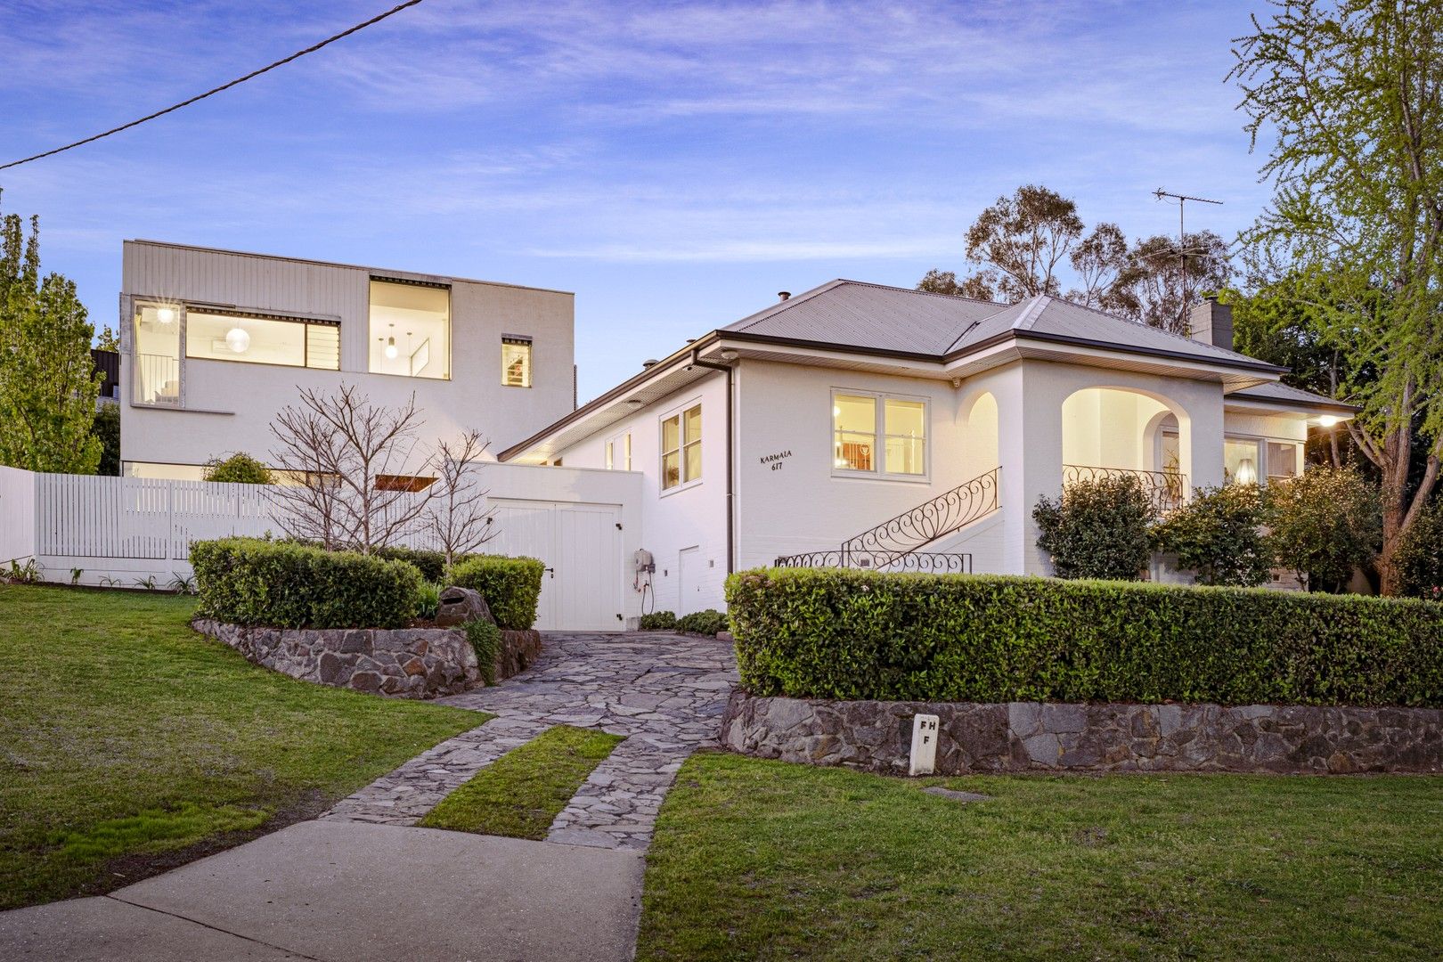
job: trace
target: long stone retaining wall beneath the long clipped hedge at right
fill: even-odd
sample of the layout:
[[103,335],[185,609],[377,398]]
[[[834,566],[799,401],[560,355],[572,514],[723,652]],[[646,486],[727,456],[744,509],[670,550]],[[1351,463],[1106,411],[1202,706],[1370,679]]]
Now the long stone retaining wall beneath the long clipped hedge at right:
[[916,714],[938,715],[938,775],[1443,772],[1439,708],[805,701],[734,691],[722,744],[906,775]]

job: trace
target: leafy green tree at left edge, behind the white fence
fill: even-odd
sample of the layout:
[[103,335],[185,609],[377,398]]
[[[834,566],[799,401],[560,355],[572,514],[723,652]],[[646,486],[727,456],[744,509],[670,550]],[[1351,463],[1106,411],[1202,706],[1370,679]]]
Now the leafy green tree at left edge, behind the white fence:
[[40,275],[40,222],[0,216],[0,464],[94,475],[91,434],[101,375],[94,327],[61,274]]

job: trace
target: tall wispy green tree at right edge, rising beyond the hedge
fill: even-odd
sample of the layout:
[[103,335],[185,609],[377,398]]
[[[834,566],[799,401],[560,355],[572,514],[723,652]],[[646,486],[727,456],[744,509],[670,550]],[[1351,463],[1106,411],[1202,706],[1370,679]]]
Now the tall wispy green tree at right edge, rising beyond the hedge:
[[[1294,278],[1323,345],[1348,352],[1339,394],[1382,477],[1382,590],[1443,456],[1443,4],[1286,0],[1235,48],[1231,78],[1271,206],[1244,232],[1253,273]],[[1424,470],[1410,482],[1414,437]]]

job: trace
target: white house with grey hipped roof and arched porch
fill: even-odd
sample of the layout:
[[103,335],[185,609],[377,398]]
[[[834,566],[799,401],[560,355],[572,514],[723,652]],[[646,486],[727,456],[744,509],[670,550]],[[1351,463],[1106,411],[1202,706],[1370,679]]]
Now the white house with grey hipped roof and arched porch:
[[835,280],[498,457],[639,472],[655,571],[635,584],[658,610],[723,607],[727,571],[778,560],[1046,574],[1032,509],[1069,480],[1126,472],[1173,503],[1296,475],[1309,428],[1354,414],[1234,352],[1225,306],[1192,326]]

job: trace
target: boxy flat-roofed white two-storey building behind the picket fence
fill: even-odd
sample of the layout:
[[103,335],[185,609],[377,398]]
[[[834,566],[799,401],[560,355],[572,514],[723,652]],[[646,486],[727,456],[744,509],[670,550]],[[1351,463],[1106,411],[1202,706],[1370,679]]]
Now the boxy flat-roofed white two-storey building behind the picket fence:
[[489,281],[127,241],[121,462],[131,477],[198,480],[266,460],[297,388],[414,394],[427,434],[476,428],[499,450],[576,407],[573,296]]

